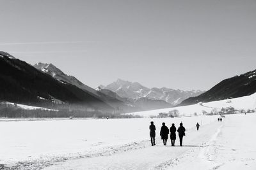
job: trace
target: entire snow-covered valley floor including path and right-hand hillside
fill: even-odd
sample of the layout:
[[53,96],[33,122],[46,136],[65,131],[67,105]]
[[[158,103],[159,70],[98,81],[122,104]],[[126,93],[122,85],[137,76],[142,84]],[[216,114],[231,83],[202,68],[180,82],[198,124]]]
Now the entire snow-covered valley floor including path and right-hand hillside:
[[[226,115],[223,122],[217,121],[218,115],[147,118],[173,109],[190,116],[229,106],[255,109],[255,105],[253,94],[132,113],[145,118],[0,121],[0,169],[256,169],[256,113]],[[151,121],[157,128],[154,147],[149,141]],[[162,146],[162,122],[168,127],[184,124],[184,147]],[[195,131],[196,122],[200,131]]]

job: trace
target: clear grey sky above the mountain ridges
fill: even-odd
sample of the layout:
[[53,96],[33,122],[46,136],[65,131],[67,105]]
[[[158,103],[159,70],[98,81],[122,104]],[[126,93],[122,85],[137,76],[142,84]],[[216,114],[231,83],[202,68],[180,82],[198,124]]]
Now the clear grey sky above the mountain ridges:
[[0,0],[0,50],[86,85],[208,90],[256,69],[255,0]]

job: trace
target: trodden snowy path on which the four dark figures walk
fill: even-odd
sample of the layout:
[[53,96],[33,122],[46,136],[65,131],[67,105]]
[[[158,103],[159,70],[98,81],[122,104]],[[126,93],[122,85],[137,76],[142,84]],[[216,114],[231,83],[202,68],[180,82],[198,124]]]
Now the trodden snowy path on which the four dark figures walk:
[[148,142],[145,143],[145,148],[138,150],[111,156],[68,160],[45,169],[165,169],[179,164],[179,159],[207,145],[222,124],[223,122],[214,122],[200,127],[200,131],[189,130],[184,137],[183,147],[178,146],[179,139],[176,141],[177,146],[172,147],[170,140],[169,146],[163,146],[157,138],[157,145],[154,147]]

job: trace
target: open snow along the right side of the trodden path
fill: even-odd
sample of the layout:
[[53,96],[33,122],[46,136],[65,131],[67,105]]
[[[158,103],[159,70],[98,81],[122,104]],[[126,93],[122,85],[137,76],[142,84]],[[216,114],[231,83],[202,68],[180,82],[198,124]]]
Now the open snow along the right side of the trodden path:
[[227,115],[206,147],[180,159],[168,169],[256,169],[256,114]]

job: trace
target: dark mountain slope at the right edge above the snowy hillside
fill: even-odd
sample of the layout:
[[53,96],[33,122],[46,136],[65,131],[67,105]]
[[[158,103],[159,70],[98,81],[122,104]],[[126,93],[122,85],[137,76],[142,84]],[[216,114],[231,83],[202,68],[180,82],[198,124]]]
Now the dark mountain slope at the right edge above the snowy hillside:
[[239,76],[225,79],[200,96],[190,97],[189,99],[182,101],[180,105],[249,96],[255,92],[256,69]]

